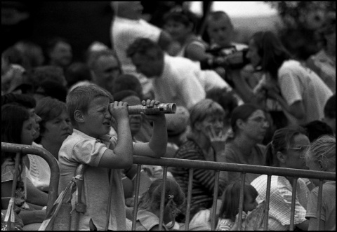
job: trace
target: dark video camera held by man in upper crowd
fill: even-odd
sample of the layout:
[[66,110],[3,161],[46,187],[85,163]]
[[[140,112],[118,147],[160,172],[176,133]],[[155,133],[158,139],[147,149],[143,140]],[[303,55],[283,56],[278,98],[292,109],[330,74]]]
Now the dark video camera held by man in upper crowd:
[[235,46],[218,47],[206,50],[206,53],[211,53],[214,57],[200,62],[201,69],[215,69],[217,67],[229,69],[241,69],[249,60],[246,58],[248,48],[237,50]]

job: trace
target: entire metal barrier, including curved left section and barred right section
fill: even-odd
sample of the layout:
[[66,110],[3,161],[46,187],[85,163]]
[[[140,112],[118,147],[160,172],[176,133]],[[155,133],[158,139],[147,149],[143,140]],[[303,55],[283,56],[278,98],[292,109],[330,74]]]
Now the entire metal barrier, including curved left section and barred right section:
[[[46,160],[49,167],[51,168],[51,182],[48,193],[48,205],[46,215],[50,213],[53,203],[58,197],[58,181],[60,177],[60,171],[58,169],[58,163],[55,161],[55,158],[46,151],[35,146],[27,146],[21,144],[8,144],[1,142],[1,151],[13,152],[13,153],[22,153],[22,154],[34,154],[41,156]],[[318,203],[317,203],[317,219],[321,218],[321,211],[319,210],[322,205],[322,184],[323,180],[336,180],[336,173],[333,172],[317,172],[310,170],[296,170],[291,168],[274,168],[274,167],[265,167],[257,165],[242,165],[234,163],[220,163],[220,162],[211,162],[211,161],[191,161],[191,160],[181,160],[176,158],[148,158],[143,156],[133,156],[133,163],[138,165],[137,177],[136,177],[136,193],[134,200],[134,210],[133,210],[133,224],[132,230],[136,230],[136,219],[138,212],[138,196],[140,189],[140,171],[142,165],[159,165],[164,167],[163,172],[163,188],[161,189],[161,204],[160,204],[160,217],[159,225],[163,224],[164,221],[164,198],[165,198],[165,188],[166,188],[166,179],[167,179],[167,170],[169,167],[179,167],[179,168],[189,168],[190,177],[188,183],[187,191],[187,215],[185,221],[185,231],[189,230],[190,224],[190,206],[191,206],[191,196],[192,196],[192,179],[195,169],[207,169],[216,171],[215,186],[213,192],[213,207],[211,212],[211,229],[214,230],[216,227],[216,202],[218,199],[218,183],[219,183],[219,174],[220,171],[227,172],[241,172],[242,173],[242,188],[240,191],[240,200],[239,200],[239,229],[242,225],[242,210],[244,207],[244,181],[246,173],[254,173],[260,175],[267,175],[267,190],[266,190],[266,199],[265,199],[265,221],[263,225],[263,230],[267,231],[267,222],[268,222],[268,213],[269,213],[269,203],[270,203],[270,185],[272,175],[277,176],[286,176],[293,177],[293,195],[291,201],[291,219],[290,219],[290,230],[293,231],[294,228],[294,212],[295,212],[295,202],[296,202],[296,186],[298,178],[309,178],[309,179],[319,179],[319,193],[318,193]],[[85,170],[84,165],[79,165],[77,173],[81,173]],[[74,220],[72,219],[71,228],[78,228],[79,214],[74,215]],[[73,218],[73,217],[72,217]],[[320,228],[320,220],[318,220],[317,230]],[[161,230],[161,226],[159,226]]]

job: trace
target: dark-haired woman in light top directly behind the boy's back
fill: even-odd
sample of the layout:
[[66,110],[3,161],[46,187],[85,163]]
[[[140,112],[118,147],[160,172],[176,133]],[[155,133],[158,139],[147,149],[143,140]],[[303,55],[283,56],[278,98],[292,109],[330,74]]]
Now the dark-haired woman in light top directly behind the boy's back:
[[[41,117],[40,135],[35,142],[37,146],[49,151],[58,159],[58,151],[62,142],[72,134],[72,124],[67,113],[64,102],[55,98],[44,97],[37,102],[36,113]],[[27,176],[32,180],[34,186],[42,191],[48,192],[51,170],[46,161],[34,155],[25,158]]]

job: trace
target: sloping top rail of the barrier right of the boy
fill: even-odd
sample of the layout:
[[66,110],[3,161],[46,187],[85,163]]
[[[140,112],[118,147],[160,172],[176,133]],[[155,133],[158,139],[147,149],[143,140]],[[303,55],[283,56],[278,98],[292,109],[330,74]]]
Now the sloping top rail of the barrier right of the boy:
[[299,170],[292,168],[276,168],[259,165],[245,165],[237,163],[221,163],[213,161],[192,161],[177,158],[150,158],[145,156],[133,156],[133,163],[143,165],[159,165],[165,167],[194,168],[220,170],[227,172],[248,172],[260,175],[292,176],[308,179],[336,180],[334,172],[319,172],[311,170]]

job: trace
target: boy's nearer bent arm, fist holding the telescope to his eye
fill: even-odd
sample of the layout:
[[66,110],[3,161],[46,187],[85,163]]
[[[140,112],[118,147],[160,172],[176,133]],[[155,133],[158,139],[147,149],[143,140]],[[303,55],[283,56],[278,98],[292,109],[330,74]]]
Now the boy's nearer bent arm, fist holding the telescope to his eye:
[[109,106],[112,116],[117,121],[118,140],[117,145],[112,151],[106,149],[100,158],[99,167],[123,169],[132,165],[133,142],[128,121],[128,104],[126,102],[114,102]]

